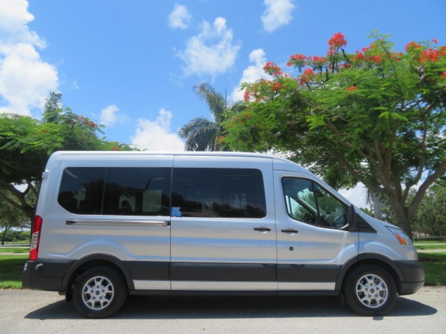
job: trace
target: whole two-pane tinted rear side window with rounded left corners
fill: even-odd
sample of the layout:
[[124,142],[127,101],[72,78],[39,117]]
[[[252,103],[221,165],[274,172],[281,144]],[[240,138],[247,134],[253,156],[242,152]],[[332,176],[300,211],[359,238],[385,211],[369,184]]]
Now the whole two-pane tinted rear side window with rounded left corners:
[[83,215],[169,216],[171,168],[65,168],[58,203]]

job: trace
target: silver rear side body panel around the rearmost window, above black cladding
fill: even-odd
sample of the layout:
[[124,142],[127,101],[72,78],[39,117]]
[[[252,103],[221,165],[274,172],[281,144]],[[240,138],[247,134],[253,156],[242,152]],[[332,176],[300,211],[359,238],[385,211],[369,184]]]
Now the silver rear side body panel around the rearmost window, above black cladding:
[[[125,155],[122,159],[116,159],[113,155],[88,152],[62,157],[57,179],[52,179],[54,185],[60,185],[62,172],[67,167],[173,166],[173,155],[152,155],[151,159],[144,155]],[[50,193],[54,199],[51,212],[42,217],[44,223],[38,260],[76,260],[90,254],[105,253],[121,261],[170,261],[170,226],[163,224],[170,221],[169,216],[78,215],[62,208],[57,200],[59,187],[52,189]],[[71,224],[72,221],[77,223]],[[108,224],[101,224],[104,221]]]

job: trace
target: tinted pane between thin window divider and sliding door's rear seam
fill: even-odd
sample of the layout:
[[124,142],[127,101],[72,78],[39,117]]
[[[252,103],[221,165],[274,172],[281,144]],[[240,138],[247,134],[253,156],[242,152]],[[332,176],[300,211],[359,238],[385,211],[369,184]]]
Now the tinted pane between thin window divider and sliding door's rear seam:
[[104,215],[169,216],[171,168],[107,168]]

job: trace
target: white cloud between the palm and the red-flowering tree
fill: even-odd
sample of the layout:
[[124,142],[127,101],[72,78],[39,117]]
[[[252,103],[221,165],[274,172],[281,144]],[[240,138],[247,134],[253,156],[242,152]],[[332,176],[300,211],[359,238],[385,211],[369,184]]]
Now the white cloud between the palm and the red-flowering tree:
[[273,77],[268,73],[265,73],[263,66],[266,63],[266,54],[263,49],[252,50],[249,54],[249,61],[254,63],[249,65],[243,70],[242,78],[240,79],[239,86],[232,90],[231,98],[232,101],[243,100],[244,91],[240,90],[240,85],[244,82],[252,83],[258,79],[264,78],[266,80],[272,80]]

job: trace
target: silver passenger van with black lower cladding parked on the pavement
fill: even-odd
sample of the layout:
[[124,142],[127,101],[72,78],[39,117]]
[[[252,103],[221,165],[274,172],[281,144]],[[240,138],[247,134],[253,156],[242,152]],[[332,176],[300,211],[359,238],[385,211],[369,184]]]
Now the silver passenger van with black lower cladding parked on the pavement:
[[66,151],[42,175],[22,281],[89,318],[186,292],[340,295],[382,315],[424,269],[400,228],[287,159]]

